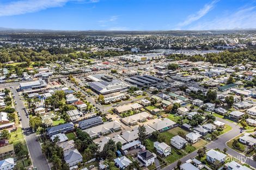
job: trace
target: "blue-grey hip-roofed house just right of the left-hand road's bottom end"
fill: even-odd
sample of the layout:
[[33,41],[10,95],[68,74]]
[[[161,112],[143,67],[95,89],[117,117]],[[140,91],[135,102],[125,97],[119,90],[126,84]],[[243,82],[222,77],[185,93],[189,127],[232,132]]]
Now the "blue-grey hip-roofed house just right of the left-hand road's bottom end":
[[69,150],[64,152],[64,160],[69,167],[73,167],[83,161],[83,156],[80,154],[80,152],[78,152],[77,149]]

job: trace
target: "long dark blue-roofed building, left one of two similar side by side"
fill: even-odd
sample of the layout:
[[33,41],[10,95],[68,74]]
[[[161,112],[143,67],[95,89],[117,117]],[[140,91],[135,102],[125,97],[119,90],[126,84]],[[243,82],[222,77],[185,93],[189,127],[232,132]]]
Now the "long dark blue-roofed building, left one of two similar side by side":
[[66,133],[66,132],[72,131],[72,130],[74,130],[74,124],[72,122],[71,123],[60,124],[60,125],[57,125],[55,127],[51,127],[51,128],[46,129],[48,136],[56,135],[56,134],[59,134],[59,133]]

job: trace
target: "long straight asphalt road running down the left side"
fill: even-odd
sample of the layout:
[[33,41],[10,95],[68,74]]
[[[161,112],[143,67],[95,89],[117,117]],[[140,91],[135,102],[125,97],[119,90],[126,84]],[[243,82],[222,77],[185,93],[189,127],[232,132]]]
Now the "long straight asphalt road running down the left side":
[[[9,84],[12,89],[11,91],[14,93],[16,104],[16,110],[21,114],[21,125],[22,128],[29,128],[29,118],[27,118],[25,111],[25,105],[22,102],[22,99],[19,96],[19,93],[16,91],[18,83],[11,83]],[[33,162],[33,166],[36,167],[38,170],[50,170],[48,163],[44,154],[42,154],[41,146],[38,141],[36,141],[35,133],[32,133],[31,130],[24,130],[23,133],[25,134],[27,147],[29,150],[29,154],[31,155],[31,159]]]

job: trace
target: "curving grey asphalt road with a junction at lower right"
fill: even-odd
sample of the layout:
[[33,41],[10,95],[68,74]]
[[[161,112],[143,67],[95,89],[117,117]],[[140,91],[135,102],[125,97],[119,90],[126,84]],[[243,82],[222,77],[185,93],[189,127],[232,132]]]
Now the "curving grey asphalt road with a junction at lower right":
[[[245,155],[242,155],[242,154],[236,152],[235,150],[228,148],[228,146],[226,144],[232,138],[236,137],[237,135],[240,135],[240,127],[239,127],[239,125],[236,125],[235,123],[231,123],[231,122],[226,121],[226,120],[224,120],[222,118],[219,118],[219,117],[216,117],[216,118],[217,118],[218,121],[221,121],[221,122],[223,122],[225,124],[230,125],[232,127],[232,130],[228,131],[228,133],[225,133],[225,134],[221,135],[220,137],[218,137],[217,140],[212,141],[212,142],[206,144],[205,147],[207,149],[219,148],[221,150],[223,150],[224,148],[227,148],[228,149],[227,153],[229,155],[231,155],[234,158],[240,160],[241,162],[247,163],[248,165],[250,165],[253,168],[256,168],[256,162],[254,160],[249,159]],[[185,162],[188,159],[194,158],[197,155],[198,155],[197,154],[197,150],[195,150],[194,152],[184,156],[182,159],[180,159],[180,161],[181,162]],[[176,166],[177,162],[178,161],[176,161],[176,162],[174,162],[174,163],[172,163],[172,164],[170,164],[167,167],[164,167],[162,169],[163,170],[173,169]]]

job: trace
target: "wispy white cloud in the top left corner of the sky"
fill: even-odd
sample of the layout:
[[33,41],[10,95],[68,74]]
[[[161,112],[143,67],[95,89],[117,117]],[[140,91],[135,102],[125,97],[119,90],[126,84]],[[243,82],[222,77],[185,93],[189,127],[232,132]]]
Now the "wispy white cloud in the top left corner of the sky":
[[63,7],[68,2],[95,3],[98,0],[20,0],[0,3],[0,16],[21,15],[44,10],[47,8]]

